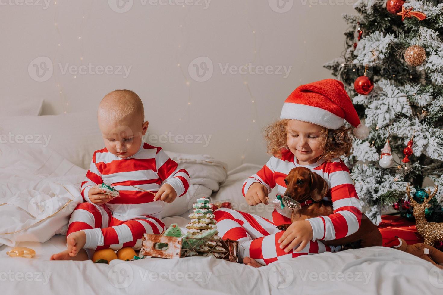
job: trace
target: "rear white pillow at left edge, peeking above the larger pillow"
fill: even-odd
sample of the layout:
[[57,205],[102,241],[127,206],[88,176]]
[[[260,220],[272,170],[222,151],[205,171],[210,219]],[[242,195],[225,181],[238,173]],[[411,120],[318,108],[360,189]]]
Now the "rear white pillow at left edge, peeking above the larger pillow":
[[[42,112],[43,99],[0,98],[0,116],[39,116]],[[6,107],[4,107],[6,106]]]

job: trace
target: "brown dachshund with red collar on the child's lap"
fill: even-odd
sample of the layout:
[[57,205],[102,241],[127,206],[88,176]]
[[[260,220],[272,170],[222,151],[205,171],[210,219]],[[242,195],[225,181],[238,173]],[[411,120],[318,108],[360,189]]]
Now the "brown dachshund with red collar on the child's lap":
[[[334,213],[332,203],[323,198],[328,192],[328,184],[317,173],[305,167],[292,169],[285,178],[287,185],[284,195],[302,204],[291,215],[291,222],[307,218],[327,216]],[[309,202],[312,200],[311,202]],[[304,205],[303,203],[308,203]],[[310,203],[310,204],[309,204]],[[279,230],[287,230],[290,224],[277,226]],[[382,239],[377,226],[364,214],[361,216],[360,228],[347,237],[322,242],[326,245],[342,246],[344,249],[355,249],[370,246],[381,246]]]

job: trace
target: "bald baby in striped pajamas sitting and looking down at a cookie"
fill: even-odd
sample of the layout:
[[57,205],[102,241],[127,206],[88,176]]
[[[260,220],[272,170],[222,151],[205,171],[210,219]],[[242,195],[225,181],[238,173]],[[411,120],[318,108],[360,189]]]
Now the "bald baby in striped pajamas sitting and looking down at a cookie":
[[[163,202],[184,195],[190,179],[160,147],[143,142],[148,124],[136,93],[115,90],[101,100],[98,125],[105,148],[94,152],[82,182],[85,203],[71,214],[67,250],[51,260],[87,260],[93,250],[105,248],[140,249],[144,233],[164,230]],[[112,185],[120,195],[105,194],[102,183]]]

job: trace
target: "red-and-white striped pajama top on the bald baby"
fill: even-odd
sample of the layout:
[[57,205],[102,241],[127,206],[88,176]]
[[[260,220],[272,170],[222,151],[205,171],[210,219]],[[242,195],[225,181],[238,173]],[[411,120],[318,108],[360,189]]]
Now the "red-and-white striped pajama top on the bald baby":
[[188,172],[179,169],[162,148],[142,141],[139,151],[125,159],[106,148],[94,152],[82,182],[83,199],[90,202],[89,189],[103,182],[120,191],[119,197],[106,203],[114,214],[148,216],[163,211],[164,202],[154,202],[155,192],[163,183],[171,184],[179,197],[187,192],[190,178]]

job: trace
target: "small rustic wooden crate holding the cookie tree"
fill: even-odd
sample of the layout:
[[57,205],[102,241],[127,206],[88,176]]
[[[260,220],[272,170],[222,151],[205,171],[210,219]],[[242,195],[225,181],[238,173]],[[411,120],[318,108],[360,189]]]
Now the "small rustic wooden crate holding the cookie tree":
[[[209,251],[197,251],[194,247],[190,246],[188,248],[183,247],[183,244],[190,245],[190,243],[184,243],[187,240],[200,241],[202,245],[207,245],[205,239],[195,239],[195,238],[176,238],[167,237],[159,234],[144,234],[142,241],[142,248],[140,249],[140,255],[159,257],[159,258],[180,258],[184,257],[184,254],[189,251],[194,251],[196,253],[211,253],[214,246],[208,246]],[[223,257],[216,257],[231,262],[238,262],[238,241],[233,240],[219,240],[224,249],[225,253],[217,252],[223,254]],[[155,249],[156,243],[165,243],[168,245],[166,250]],[[212,248],[211,248],[212,247]],[[202,255],[199,255],[202,256]]]

